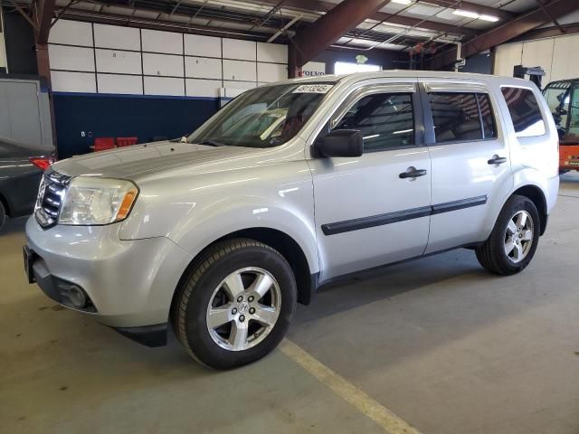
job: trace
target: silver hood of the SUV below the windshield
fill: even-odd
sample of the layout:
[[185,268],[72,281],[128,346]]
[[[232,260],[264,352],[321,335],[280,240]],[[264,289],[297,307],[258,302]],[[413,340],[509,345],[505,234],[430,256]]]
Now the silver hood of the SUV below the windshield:
[[201,146],[169,141],[127,146],[85,156],[73,156],[52,167],[67,175],[132,179],[188,165],[204,165],[262,152],[242,146]]

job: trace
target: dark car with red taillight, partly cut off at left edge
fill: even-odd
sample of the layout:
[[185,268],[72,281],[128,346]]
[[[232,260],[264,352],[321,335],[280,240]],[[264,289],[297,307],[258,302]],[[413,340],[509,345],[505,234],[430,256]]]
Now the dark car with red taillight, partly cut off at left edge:
[[6,216],[20,217],[34,210],[43,170],[53,152],[0,137],[0,229]]

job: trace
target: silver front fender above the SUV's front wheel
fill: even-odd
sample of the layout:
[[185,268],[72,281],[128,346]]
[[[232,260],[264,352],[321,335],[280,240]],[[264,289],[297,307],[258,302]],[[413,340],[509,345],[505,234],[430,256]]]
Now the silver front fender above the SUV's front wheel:
[[303,161],[139,187],[121,240],[164,236],[195,257],[234,231],[269,228],[289,235],[311,272],[319,270],[313,186]]

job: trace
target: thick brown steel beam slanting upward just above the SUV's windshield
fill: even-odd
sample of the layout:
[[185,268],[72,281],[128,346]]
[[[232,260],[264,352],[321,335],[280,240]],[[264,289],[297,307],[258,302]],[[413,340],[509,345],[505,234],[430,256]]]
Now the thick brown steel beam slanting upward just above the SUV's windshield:
[[375,14],[390,0],[344,0],[327,14],[322,15],[315,24],[299,30],[293,39],[297,51],[297,67],[311,61],[318,53],[336,42],[348,31]]

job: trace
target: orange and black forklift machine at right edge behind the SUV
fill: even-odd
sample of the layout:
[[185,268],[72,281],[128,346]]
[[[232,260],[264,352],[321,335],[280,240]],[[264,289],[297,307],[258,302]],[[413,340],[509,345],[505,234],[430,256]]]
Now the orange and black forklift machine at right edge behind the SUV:
[[559,132],[559,172],[579,170],[579,79],[552,81],[543,95]]

